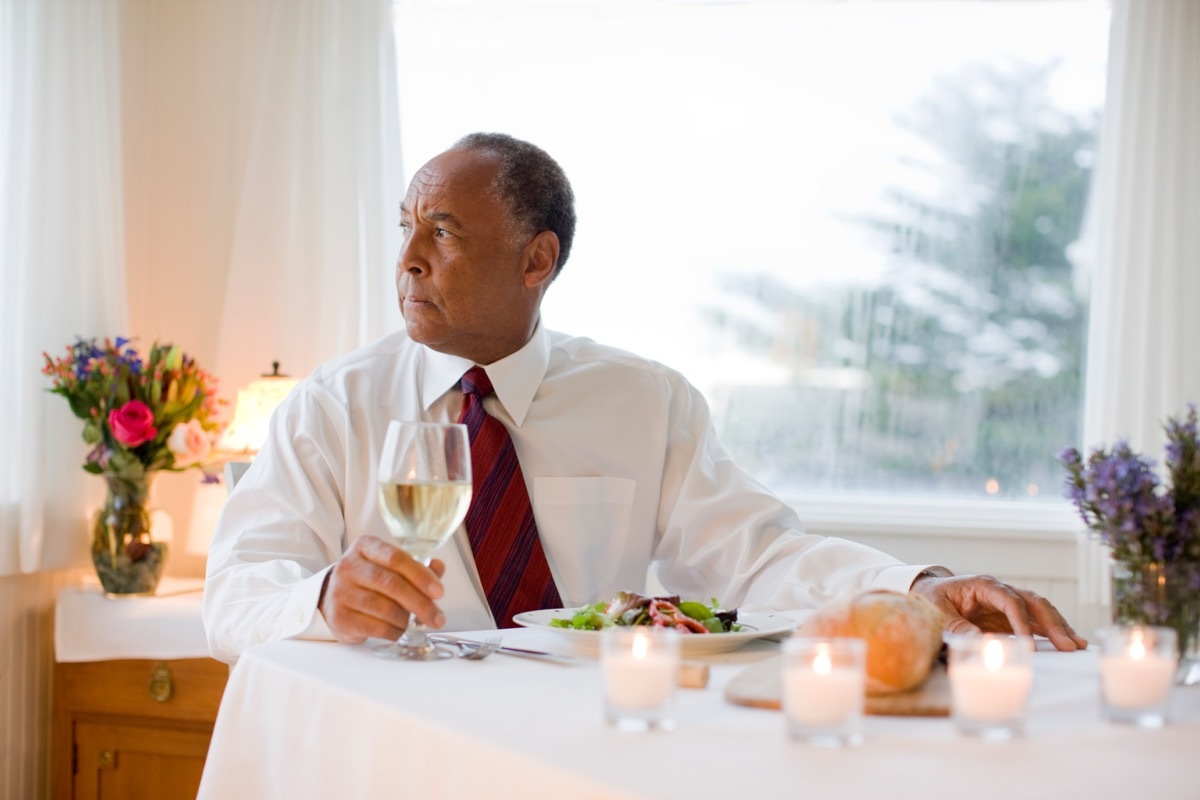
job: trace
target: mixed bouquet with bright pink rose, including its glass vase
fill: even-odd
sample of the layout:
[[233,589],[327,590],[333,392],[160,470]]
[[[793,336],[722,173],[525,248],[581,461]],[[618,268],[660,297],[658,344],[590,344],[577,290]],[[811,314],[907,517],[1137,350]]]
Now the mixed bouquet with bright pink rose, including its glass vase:
[[67,355],[43,354],[50,392],[84,421],[83,468],[104,477],[108,497],[92,527],[92,563],[109,595],[154,594],[167,548],[150,536],[154,476],[202,467],[221,431],[216,380],[178,347],[143,356],[130,339],[79,338]]

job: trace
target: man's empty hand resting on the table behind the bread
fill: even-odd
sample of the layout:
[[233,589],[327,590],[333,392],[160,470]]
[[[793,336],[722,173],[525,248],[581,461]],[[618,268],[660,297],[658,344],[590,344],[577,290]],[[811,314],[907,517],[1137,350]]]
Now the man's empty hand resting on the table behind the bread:
[[1060,650],[1087,646],[1087,639],[1075,633],[1049,600],[988,575],[923,575],[913,582],[910,591],[942,609],[946,630],[950,633],[1038,634],[1050,639]]

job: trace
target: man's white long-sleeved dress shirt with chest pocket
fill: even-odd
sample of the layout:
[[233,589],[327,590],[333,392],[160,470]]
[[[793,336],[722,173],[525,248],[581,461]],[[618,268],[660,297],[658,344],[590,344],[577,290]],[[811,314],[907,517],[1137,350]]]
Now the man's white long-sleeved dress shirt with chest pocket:
[[[317,610],[326,571],[358,537],[388,537],[376,489],[388,422],[456,420],[457,381],[472,366],[394,333],[293,390],[217,523],[204,593],[215,657],[332,638]],[[487,375],[496,395],[485,408],[512,437],[568,607],[642,590],[650,564],[686,599],[778,610],[905,591],[928,566],[804,533],[733,463],[701,393],[660,363],[539,324]],[[493,627],[464,528],[437,558],[445,628]]]

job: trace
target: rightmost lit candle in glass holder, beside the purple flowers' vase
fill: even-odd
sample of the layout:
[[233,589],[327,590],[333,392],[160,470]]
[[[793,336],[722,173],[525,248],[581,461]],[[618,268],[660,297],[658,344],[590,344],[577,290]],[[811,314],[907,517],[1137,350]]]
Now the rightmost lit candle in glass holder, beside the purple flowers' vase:
[[1176,633],[1169,627],[1115,625],[1097,631],[1100,711],[1105,720],[1160,728],[1175,675]]

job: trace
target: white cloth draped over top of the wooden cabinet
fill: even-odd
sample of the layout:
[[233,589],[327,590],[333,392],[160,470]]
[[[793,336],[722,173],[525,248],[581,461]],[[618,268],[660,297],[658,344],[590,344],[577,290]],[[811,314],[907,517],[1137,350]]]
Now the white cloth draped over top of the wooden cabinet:
[[64,589],[54,607],[54,658],[208,658],[203,589],[200,578],[163,578],[154,597],[106,597],[98,583]]

